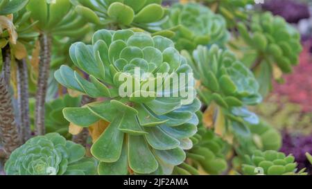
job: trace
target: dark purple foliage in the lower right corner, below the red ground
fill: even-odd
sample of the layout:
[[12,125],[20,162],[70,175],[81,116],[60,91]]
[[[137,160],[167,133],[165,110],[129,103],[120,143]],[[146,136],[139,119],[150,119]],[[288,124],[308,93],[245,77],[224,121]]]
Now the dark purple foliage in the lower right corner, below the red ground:
[[306,172],[312,174],[312,165],[306,159],[306,152],[312,153],[312,136],[291,136],[287,132],[283,133],[283,145],[281,152],[293,154],[298,163],[298,169],[306,168]]

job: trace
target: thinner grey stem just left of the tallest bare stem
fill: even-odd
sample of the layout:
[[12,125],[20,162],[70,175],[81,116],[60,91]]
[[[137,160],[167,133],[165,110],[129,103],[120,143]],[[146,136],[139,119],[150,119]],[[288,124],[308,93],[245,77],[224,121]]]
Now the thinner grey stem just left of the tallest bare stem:
[[28,105],[28,72],[26,60],[17,60],[17,103],[21,127],[19,134],[21,142],[25,143],[31,138],[31,122],[29,120]]

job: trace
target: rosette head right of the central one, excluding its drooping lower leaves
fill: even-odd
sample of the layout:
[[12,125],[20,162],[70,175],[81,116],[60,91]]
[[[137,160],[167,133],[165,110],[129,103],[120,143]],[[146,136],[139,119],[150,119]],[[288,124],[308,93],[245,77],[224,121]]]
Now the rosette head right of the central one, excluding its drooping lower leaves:
[[[204,97],[206,102],[214,100],[221,107],[241,107],[261,102],[259,84],[254,75],[230,51],[213,45],[209,49],[198,46],[193,52],[193,60],[186,51],[182,54],[189,57],[195,77],[205,87],[202,92],[207,93]],[[214,93],[220,98],[214,97]]]

